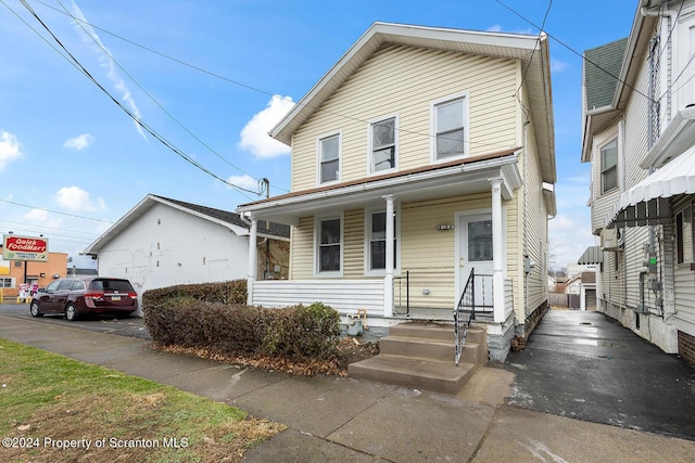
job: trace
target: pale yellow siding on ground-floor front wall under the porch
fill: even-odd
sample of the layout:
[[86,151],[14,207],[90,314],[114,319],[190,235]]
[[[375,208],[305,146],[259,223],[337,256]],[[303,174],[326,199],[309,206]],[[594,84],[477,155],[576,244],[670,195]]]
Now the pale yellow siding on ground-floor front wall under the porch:
[[[489,209],[489,193],[469,196],[455,196],[435,201],[403,203],[397,206],[401,214],[401,276],[409,271],[410,305],[426,308],[452,308],[457,301],[455,294],[456,273],[454,261],[455,231],[438,231],[439,223],[455,223],[455,215],[467,210]],[[522,281],[519,275],[519,233],[518,208],[514,201],[503,202],[507,216],[506,239],[507,276]],[[351,209],[343,213],[343,278],[364,279],[364,209]],[[314,218],[305,217],[292,229],[292,280],[314,278]],[[538,266],[536,266],[538,267]],[[521,268],[522,271],[522,268]],[[396,274],[399,276],[399,274]],[[381,276],[371,276],[380,279]],[[396,283],[396,301],[399,290]],[[405,285],[403,300],[405,300]],[[422,290],[429,290],[424,295]],[[519,307],[519,294],[515,290],[515,307]]]

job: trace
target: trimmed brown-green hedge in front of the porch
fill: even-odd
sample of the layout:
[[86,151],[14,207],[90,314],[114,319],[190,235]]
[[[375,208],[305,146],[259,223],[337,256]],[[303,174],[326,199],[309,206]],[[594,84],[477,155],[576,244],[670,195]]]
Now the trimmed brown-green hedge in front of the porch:
[[240,298],[245,301],[245,281],[148,291],[142,295],[144,324],[155,343],[224,356],[266,353],[294,360],[338,356],[340,314],[329,306],[264,309],[239,303]]

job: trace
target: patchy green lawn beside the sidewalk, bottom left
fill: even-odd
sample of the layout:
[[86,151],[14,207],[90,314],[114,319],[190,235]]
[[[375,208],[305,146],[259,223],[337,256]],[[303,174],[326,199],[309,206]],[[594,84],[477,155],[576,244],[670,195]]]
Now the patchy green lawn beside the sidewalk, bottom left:
[[0,461],[238,462],[285,429],[152,381],[0,339]]

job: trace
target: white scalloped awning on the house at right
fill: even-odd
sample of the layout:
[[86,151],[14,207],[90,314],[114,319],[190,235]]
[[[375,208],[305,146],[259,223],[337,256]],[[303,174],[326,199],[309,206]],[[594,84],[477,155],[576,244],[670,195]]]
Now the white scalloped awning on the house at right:
[[671,216],[668,198],[679,194],[695,194],[695,146],[622,193],[606,228],[666,223]]

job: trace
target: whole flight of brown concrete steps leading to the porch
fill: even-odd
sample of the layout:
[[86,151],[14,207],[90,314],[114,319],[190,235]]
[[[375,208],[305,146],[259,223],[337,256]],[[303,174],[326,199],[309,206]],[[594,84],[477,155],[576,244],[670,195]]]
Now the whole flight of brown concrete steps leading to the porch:
[[468,330],[458,366],[453,325],[401,323],[379,347],[378,356],[348,365],[348,376],[455,396],[488,362],[488,332],[476,326]]

